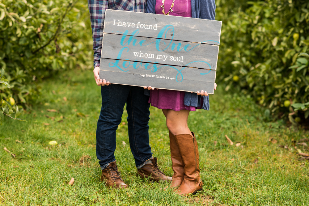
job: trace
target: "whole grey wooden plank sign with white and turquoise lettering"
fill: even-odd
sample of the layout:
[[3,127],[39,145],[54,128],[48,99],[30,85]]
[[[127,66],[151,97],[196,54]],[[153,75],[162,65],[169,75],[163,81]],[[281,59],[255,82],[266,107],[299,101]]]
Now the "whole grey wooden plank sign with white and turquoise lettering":
[[108,9],[100,78],[214,93],[221,21]]

